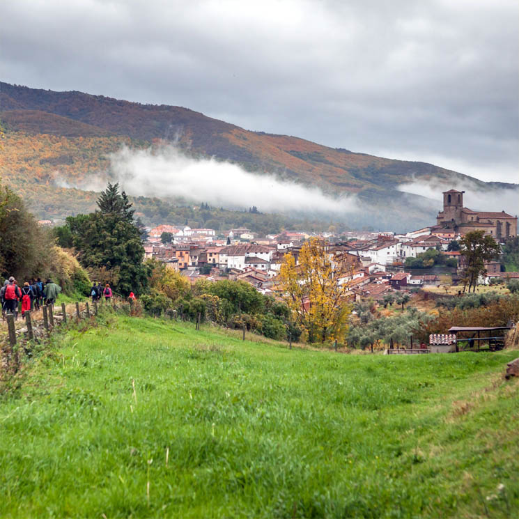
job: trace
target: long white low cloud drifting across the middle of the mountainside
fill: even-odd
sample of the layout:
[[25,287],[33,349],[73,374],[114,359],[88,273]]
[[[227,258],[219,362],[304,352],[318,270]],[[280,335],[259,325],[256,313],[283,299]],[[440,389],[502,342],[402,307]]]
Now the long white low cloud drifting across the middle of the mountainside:
[[109,156],[114,180],[133,196],[183,197],[226,208],[256,206],[266,212],[358,210],[353,196],[332,198],[320,189],[249,173],[236,164],[193,159],[174,146],[152,150],[121,148]]

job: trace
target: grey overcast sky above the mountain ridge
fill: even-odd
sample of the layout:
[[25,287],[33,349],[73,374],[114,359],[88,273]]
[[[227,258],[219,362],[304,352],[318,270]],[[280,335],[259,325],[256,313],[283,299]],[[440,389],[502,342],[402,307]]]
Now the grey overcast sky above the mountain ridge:
[[517,183],[517,0],[5,0],[3,81]]

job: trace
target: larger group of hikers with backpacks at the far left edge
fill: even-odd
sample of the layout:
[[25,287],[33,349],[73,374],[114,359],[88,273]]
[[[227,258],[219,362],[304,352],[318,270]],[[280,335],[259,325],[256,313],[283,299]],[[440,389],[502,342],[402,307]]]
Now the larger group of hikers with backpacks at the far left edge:
[[53,283],[51,279],[47,281],[42,281],[39,277],[29,279],[20,287],[17,280],[11,276],[0,288],[2,317],[12,313],[17,318],[20,302],[22,302],[22,317],[26,311],[38,310],[44,304],[54,304],[60,292],[61,286]]

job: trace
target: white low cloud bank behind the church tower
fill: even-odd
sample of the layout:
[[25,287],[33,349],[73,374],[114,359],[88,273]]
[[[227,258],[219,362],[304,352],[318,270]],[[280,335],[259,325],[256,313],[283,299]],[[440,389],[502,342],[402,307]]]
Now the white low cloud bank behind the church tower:
[[[460,182],[425,182],[423,180],[413,180],[410,183],[398,186],[398,191],[410,194],[425,196],[431,200],[431,206],[440,210],[443,206],[442,192],[449,189],[465,191],[463,195],[463,205],[472,210],[479,211],[506,211],[515,216],[518,213],[519,186],[515,185],[509,189],[504,187],[485,187],[482,188],[471,180]],[[424,201],[426,202],[426,201]]]

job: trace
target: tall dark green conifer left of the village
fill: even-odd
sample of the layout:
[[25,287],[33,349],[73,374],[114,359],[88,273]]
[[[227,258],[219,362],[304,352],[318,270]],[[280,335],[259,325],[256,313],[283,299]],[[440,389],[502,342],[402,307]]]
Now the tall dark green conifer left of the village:
[[119,193],[118,184],[109,184],[100,194],[98,210],[66,219],[80,263],[95,272],[102,268],[114,272],[112,279],[118,280],[114,288],[122,295],[144,293],[149,277],[131,207],[125,192]]

